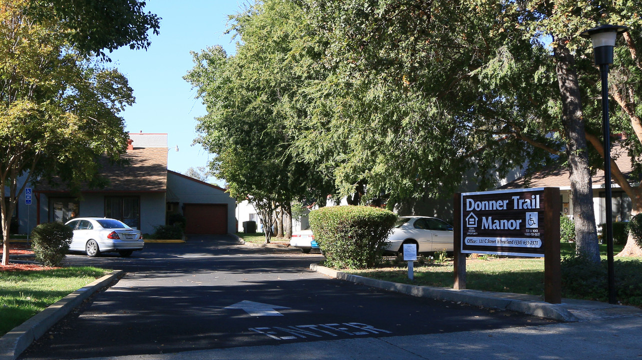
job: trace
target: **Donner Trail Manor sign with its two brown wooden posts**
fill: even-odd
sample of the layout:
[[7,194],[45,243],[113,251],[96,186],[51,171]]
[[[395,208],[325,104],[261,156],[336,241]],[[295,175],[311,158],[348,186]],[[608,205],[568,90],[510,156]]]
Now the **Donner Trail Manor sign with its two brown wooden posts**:
[[556,187],[455,195],[455,288],[465,253],[544,257],[545,298],[558,303],[560,193]]

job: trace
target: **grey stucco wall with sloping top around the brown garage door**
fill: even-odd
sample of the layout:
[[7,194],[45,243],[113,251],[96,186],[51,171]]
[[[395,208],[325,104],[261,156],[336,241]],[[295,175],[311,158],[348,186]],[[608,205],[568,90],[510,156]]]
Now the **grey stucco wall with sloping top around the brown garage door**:
[[234,232],[236,200],[230,198],[225,191],[172,172],[167,175],[167,190],[167,201],[177,201],[179,209],[186,203],[227,204],[227,232]]

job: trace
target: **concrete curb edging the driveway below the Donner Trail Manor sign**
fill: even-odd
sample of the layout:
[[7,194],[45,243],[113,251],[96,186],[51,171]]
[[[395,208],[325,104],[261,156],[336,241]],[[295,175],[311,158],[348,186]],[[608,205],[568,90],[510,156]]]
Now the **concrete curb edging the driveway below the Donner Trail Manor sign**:
[[343,273],[342,271],[326,268],[317,264],[310,264],[310,270],[317,271],[323,275],[334,277],[336,279],[363,284],[366,286],[377,287],[387,291],[395,291],[412,296],[433,298],[435,300],[462,302],[464,304],[492,307],[496,309],[505,309],[516,311],[518,313],[530,314],[557,321],[579,321],[577,316],[564,309],[561,304],[548,304],[547,302],[532,300],[532,296],[507,294],[507,293],[490,293],[479,290],[455,290],[447,287],[429,287],[415,286],[409,284],[399,284],[397,282],[370,279],[359,275]]

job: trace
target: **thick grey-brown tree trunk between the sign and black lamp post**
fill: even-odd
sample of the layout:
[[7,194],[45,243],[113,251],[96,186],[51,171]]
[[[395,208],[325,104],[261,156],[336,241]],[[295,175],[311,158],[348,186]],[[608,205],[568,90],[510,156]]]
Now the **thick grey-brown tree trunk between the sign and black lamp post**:
[[555,70],[562,96],[562,123],[566,132],[569,180],[573,198],[573,221],[575,222],[575,243],[578,255],[590,262],[600,262],[595,214],[593,212],[593,189],[589,170],[588,151],[582,99],[575,71],[575,58],[564,46],[564,39],[556,39],[554,50]]

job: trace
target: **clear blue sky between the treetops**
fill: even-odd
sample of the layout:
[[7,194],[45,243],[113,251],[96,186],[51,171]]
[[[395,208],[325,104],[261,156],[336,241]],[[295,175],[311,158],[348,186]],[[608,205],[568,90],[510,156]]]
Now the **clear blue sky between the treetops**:
[[[128,132],[167,133],[168,146],[179,151],[168,153],[168,168],[184,173],[187,168],[204,166],[211,159],[199,145],[195,117],[205,114],[195,90],[183,80],[193,67],[189,51],[221,45],[228,54],[236,47],[227,29],[227,15],[236,13],[245,1],[147,0],[146,11],[162,17],[160,35],[152,35],[147,51],[123,47],[109,56],[125,74],[134,89],[136,103],[121,112]],[[214,179],[211,179],[214,180]]]

